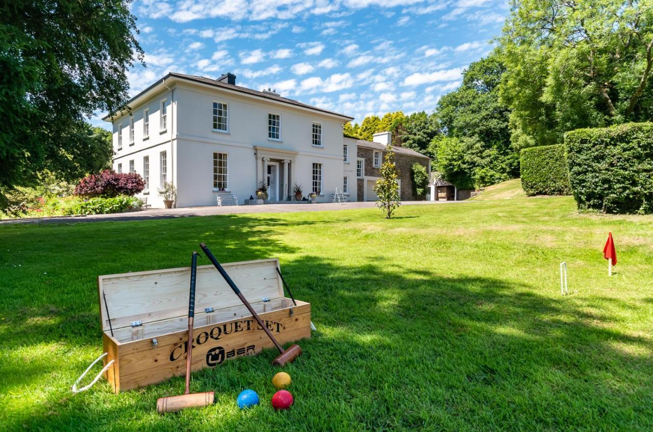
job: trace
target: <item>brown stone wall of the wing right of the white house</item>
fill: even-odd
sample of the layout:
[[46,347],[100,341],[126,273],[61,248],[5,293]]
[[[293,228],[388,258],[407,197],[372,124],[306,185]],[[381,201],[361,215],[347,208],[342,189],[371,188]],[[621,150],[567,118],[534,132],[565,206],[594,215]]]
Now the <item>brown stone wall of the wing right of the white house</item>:
[[[357,146],[358,148],[358,157],[365,160],[365,173],[366,177],[380,177],[381,170],[374,166],[374,149],[368,147]],[[381,163],[385,161],[385,151],[381,151]],[[424,157],[417,157],[411,155],[405,155],[403,153],[394,153],[394,163],[397,166],[397,171],[399,173],[399,179],[401,180],[401,200],[402,201],[416,201],[424,200],[424,196],[416,196],[413,186],[413,172],[411,166],[417,162],[424,166],[428,170],[429,159]],[[358,201],[364,200],[363,196],[363,179],[357,179],[358,185]]]

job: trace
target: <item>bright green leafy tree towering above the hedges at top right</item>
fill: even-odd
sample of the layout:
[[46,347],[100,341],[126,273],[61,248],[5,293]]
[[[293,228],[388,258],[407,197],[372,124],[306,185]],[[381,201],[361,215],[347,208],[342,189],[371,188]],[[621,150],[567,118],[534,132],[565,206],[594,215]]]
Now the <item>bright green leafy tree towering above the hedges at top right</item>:
[[513,144],[653,117],[653,0],[511,0],[500,38]]

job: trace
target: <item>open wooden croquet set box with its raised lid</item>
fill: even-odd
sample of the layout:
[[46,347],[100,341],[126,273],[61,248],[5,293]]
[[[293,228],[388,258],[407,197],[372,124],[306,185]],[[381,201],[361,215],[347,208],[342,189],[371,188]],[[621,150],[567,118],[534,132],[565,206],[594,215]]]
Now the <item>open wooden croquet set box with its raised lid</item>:
[[[311,336],[311,305],[285,298],[278,266],[276,259],[223,264],[283,345]],[[114,392],[185,373],[190,278],[190,267],[97,278],[104,365],[115,360],[106,379]],[[193,371],[274,347],[212,265],[197,267],[193,329]]]

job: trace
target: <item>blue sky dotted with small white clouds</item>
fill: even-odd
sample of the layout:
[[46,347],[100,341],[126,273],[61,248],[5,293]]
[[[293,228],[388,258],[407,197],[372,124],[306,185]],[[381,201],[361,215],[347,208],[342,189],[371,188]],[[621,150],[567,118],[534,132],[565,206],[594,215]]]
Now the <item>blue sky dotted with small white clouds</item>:
[[492,50],[509,12],[505,0],[137,0],[132,9],[147,67],[129,71],[131,95],[168,71],[232,72],[238,85],[358,122],[432,112]]

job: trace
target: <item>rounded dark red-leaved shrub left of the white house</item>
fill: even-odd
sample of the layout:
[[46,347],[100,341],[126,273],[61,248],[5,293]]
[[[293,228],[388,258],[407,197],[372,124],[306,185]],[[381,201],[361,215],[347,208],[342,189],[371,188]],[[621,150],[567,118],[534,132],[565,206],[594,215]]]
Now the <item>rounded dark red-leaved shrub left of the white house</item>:
[[104,196],[112,198],[118,195],[135,195],[145,189],[145,182],[140,174],[104,170],[100,174],[91,174],[80,180],[75,187],[75,194],[81,196]]

